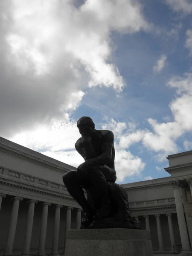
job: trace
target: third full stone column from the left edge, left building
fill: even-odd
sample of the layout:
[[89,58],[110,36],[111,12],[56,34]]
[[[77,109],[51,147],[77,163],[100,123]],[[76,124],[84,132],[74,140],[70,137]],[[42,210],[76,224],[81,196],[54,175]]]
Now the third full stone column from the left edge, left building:
[[41,232],[40,232],[39,248],[38,248],[37,255],[45,256],[45,241],[46,241],[46,233],[47,233],[48,206],[50,206],[51,204],[43,203],[41,205],[43,205],[43,212],[42,212],[42,218],[41,218]]

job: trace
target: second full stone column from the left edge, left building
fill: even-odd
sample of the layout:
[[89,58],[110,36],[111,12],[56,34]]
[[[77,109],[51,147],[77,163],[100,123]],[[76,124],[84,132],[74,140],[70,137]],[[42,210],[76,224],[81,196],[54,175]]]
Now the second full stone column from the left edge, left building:
[[33,216],[34,216],[35,204],[37,204],[37,201],[30,200],[27,203],[29,203],[29,208],[28,208],[27,223],[26,223],[26,230],[25,230],[25,239],[23,244],[23,252],[21,254],[25,256],[30,255],[29,251],[30,251],[32,228],[33,228]]

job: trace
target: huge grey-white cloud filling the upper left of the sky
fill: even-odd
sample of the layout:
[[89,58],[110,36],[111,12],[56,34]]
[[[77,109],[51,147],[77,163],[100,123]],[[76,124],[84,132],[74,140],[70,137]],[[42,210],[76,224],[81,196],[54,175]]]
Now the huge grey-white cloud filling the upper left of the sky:
[[150,29],[131,0],[87,0],[79,8],[70,0],[3,1],[0,23],[3,137],[61,120],[87,87],[122,90],[111,31]]

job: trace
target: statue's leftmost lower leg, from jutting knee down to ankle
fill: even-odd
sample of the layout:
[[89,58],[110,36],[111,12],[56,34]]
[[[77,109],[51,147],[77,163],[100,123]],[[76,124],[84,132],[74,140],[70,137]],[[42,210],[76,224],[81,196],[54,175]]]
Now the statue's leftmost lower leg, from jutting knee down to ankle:
[[82,207],[84,212],[90,212],[91,208],[84,196],[84,191],[81,187],[84,180],[81,180],[76,171],[69,171],[63,175],[63,182],[70,195]]

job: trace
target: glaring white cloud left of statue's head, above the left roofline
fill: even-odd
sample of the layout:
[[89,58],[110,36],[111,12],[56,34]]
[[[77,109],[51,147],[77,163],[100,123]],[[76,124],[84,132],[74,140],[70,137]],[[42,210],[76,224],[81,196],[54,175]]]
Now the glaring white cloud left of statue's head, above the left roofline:
[[35,151],[58,152],[73,150],[79,137],[76,122],[66,115],[62,122],[53,122],[50,127],[39,125],[35,130],[16,134],[11,140]]

